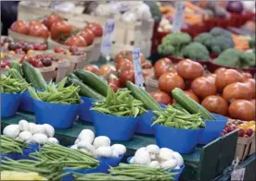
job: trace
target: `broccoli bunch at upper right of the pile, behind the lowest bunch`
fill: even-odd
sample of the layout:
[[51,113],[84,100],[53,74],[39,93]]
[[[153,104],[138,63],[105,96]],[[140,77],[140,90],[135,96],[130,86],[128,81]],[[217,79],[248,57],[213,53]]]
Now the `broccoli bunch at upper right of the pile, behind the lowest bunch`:
[[218,27],[199,34],[194,42],[205,45],[211,54],[221,54],[228,48],[234,48],[235,45],[231,32]]

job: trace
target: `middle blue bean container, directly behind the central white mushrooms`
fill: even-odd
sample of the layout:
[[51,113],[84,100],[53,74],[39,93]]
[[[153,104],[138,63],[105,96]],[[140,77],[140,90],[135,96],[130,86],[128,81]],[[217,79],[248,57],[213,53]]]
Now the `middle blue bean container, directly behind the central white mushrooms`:
[[106,115],[92,111],[96,136],[107,136],[111,140],[130,140],[134,136],[138,121],[137,117]]

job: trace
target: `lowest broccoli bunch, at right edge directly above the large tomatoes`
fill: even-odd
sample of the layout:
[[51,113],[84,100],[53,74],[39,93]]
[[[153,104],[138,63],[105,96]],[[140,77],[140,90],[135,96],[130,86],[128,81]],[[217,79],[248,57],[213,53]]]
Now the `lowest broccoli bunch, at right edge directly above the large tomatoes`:
[[220,54],[214,60],[214,63],[220,66],[248,68],[256,65],[255,53],[241,52],[237,49],[230,48]]

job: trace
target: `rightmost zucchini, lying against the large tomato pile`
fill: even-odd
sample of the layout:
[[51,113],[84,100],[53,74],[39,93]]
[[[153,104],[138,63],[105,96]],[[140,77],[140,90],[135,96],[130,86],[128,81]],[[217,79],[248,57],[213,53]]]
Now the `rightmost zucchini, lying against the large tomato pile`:
[[180,103],[190,114],[200,113],[201,117],[205,120],[215,120],[215,117],[213,117],[207,109],[187,97],[183,90],[175,88],[172,91],[172,95],[175,101]]

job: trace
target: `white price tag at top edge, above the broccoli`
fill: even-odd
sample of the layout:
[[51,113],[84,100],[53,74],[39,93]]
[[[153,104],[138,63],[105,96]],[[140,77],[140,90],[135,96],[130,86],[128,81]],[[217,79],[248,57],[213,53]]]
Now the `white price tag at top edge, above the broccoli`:
[[185,2],[175,3],[175,13],[173,18],[173,32],[179,31],[182,28],[184,20]]

